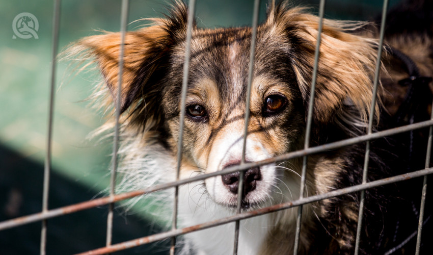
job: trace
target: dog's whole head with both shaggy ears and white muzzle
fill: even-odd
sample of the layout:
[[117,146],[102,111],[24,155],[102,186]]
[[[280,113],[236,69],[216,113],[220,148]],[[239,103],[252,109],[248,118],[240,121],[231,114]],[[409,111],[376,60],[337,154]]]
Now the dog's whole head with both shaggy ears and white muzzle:
[[[150,27],[126,34],[120,110],[126,116],[125,129],[146,133],[148,143],[163,144],[176,155],[186,7],[178,4],[168,18],[152,21]],[[246,162],[302,148],[318,21],[304,9],[271,3],[266,20],[259,25]],[[313,143],[332,140],[328,131],[350,136],[355,127],[363,126],[372,110],[376,42],[348,33],[359,28],[359,23],[323,22]],[[193,171],[220,171],[241,162],[251,35],[248,27],[210,30],[194,25],[185,103],[183,176]],[[119,47],[119,33],[84,38],[75,47],[88,50],[95,58],[113,98],[117,95]],[[280,192],[284,196],[289,196],[290,189],[295,194],[299,172],[296,161],[246,170],[245,207],[269,201],[278,189],[286,190]],[[326,186],[315,174],[310,170],[307,176],[312,189]],[[232,173],[209,178],[204,181],[206,191],[215,202],[235,207],[238,177],[238,173]]]

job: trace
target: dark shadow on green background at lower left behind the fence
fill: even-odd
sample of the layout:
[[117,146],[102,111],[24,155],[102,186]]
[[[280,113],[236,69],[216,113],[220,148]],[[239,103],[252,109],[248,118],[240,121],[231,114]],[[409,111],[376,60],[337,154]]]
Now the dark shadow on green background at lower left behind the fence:
[[[42,208],[43,165],[0,145],[0,221],[38,213]],[[51,173],[49,208],[92,199],[97,191]],[[114,217],[113,243],[160,232],[134,216]],[[94,208],[48,220],[47,254],[71,254],[105,245],[107,209]],[[0,232],[0,254],[38,254],[41,222]],[[116,254],[167,254],[169,242],[149,244]]]

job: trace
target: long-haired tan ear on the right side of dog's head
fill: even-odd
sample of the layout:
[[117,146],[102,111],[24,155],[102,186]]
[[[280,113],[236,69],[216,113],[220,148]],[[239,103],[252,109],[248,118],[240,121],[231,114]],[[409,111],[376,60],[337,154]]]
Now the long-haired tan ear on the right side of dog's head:
[[[266,22],[287,35],[293,48],[291,64],[308,104],[319,18],[283,2],[270,5]],[[313,114],[316,123],[365,127],[368,121],[378,43],[354,33],[364,25],[323,19]],[[376,117],[378,109],[376,105]]]

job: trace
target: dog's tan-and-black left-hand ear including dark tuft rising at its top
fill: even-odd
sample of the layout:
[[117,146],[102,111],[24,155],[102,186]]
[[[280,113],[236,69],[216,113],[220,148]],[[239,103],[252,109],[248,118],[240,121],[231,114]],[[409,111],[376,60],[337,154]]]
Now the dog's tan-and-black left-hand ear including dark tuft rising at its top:
[[[172,46],[186,37],[187,7],[176,2],[165,19],[147,19],[149,27],[127,32],[123,54],[120,111],[142,100],[149,108],[160,90]],[[117,101],[121,33],[105,33],[85,37],[66,52],[66,57],[91,59],[99,67],[112,99]],[[149,109],[148,109],[149,110]]]

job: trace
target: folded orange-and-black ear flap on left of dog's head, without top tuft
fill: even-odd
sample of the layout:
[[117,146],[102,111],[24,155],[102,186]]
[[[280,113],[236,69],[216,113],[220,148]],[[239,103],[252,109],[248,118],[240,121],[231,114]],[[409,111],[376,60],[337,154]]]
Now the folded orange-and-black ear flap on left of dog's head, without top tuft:
[[[120,97],[121,112],[142,96],[139,95],[140,92],[148,92],[148,88],[144,89],[144,86],[151,80],[155,71],[163,65],[161,61],[167,54],[165,37],[167,32],[160,25],[126,33]],[[120,46],[121,33],[106,33],[83,38],[73,47],[73,50],[85,53],[86,57],[93,58],[97,63],[114,102],[117,101],[118,95]]]

